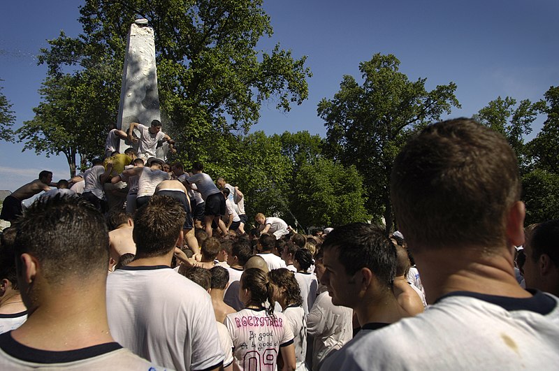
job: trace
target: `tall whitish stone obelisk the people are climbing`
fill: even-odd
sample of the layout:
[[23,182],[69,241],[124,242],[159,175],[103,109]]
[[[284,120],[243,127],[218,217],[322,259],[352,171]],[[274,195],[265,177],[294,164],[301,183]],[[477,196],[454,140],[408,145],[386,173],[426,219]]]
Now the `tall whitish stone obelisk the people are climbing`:
[[[117,128],[127,133],[131,122],[150,126],[154,119],[161,121],[154,31],[147,25],[147,20],[140,19],[131,24],[126,43]],[[119,152],[124,153],[131,145],[128,140],[121,140]],[[138,150],[137,144],[133,147]],[[165,158],[161,143],[157,147],[157,157]]]

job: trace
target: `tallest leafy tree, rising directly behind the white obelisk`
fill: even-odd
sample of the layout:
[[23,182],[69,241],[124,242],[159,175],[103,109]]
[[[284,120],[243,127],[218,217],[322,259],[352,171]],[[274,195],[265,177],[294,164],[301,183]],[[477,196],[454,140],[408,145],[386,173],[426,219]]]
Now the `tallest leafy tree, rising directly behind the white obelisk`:
[[86,0],[80,15],[83,34],[50,41],[41,61],[52,73],[64,66],[92,73],[110,66],[110,75],[100,80],[112,89],[108,106],[117,106],[114,81],[126,36],[131,22],[145,17],[155,31],[165,129],[179,141],[184,160],[233,157],[231,136],[248,133],[263,101],[274,97],[277,108],[289,110],[307,98],[305,57],[296,59],[279,45],[271,52],[256,49],[272,33],[261,0]]

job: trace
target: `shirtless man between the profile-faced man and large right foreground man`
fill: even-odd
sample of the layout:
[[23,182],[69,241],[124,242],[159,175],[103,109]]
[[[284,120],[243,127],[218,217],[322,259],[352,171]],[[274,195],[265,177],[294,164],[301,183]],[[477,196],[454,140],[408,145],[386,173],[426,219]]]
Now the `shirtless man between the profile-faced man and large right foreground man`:
[[[396,247],[396,277],[392,286],[392,291],[398,304],[409,316],[415,316],[423,312],[423,300],[419,297],[412,285],[407,283],[406,272],[409,268],[409,258],[405,247]],[[421,293],[421,291],[419,291]]]

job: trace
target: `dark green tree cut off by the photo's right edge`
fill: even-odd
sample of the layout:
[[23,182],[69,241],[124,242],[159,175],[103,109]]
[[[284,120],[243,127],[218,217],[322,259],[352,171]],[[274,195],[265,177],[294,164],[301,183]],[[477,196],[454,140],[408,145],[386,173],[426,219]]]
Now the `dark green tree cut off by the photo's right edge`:
[[559,174],[559,87],[550,87],[537,103],[547,115],[542,131],[528,143],[535,168]]

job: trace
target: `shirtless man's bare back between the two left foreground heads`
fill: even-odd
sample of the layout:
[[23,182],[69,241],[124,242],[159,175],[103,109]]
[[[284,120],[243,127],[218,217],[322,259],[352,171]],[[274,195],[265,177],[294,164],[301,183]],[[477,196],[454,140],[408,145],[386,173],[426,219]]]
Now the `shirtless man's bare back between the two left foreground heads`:
[[134,230],[134,221],[130,214],[124,211],[112,212],[109,216],[108,224],[111,228],[109,231],[110,243],[110,259],[118,263],[120,257],[130,253],[136,255],[136,242],[132,237]]

